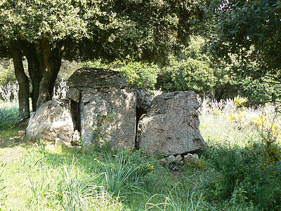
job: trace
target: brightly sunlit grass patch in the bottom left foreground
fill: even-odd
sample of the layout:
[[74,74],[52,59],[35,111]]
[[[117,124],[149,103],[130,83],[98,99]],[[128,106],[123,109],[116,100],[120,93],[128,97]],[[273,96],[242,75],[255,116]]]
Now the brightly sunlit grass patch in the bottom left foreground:
[[122,210],[120,200],[96,183],[104,174],[87,172],[79,158],[66,151],[34,147],[17,162],[6,162],[3,209]]

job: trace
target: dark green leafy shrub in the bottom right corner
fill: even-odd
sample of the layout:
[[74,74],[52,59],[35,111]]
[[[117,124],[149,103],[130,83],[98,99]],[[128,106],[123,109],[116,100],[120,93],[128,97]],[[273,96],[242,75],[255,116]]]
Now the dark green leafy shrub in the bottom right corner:
[[281,206],[280,152],[279,146],[273,144],[267,148],[258,143],[246,148],[209,148],[206,157],[221,173],[211,193],[227,200],[235,187],[242,188],[247,193],[247,201],[259,210],[277,210]]

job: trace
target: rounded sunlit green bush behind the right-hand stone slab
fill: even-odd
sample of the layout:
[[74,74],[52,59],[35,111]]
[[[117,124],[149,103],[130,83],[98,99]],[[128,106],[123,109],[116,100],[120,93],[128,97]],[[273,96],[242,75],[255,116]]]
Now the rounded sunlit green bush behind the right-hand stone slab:
[[157,89],[164,91],[192,90],[200,94],[210,93],[216,85],[215,69],[203,52],[204,39],[191,39],[190,46],[169,60],[169,66],[157,78]]

